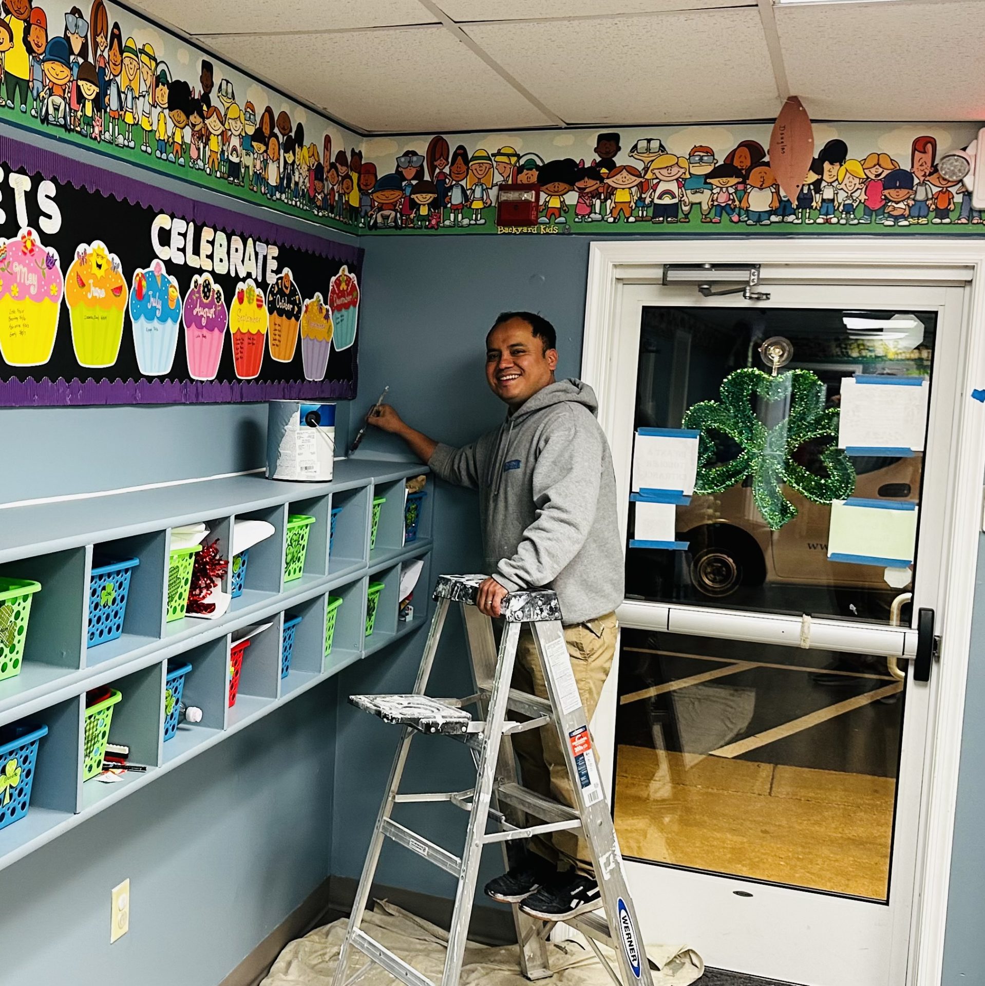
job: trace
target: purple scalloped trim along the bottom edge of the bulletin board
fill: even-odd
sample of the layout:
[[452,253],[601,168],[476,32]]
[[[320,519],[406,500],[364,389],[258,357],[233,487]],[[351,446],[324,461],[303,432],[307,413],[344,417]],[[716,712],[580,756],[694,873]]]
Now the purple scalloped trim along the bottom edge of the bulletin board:
[[0,381],[0,406],[64,407],[83,404],[236,404],[264,400],[351,400],[355,381]]

